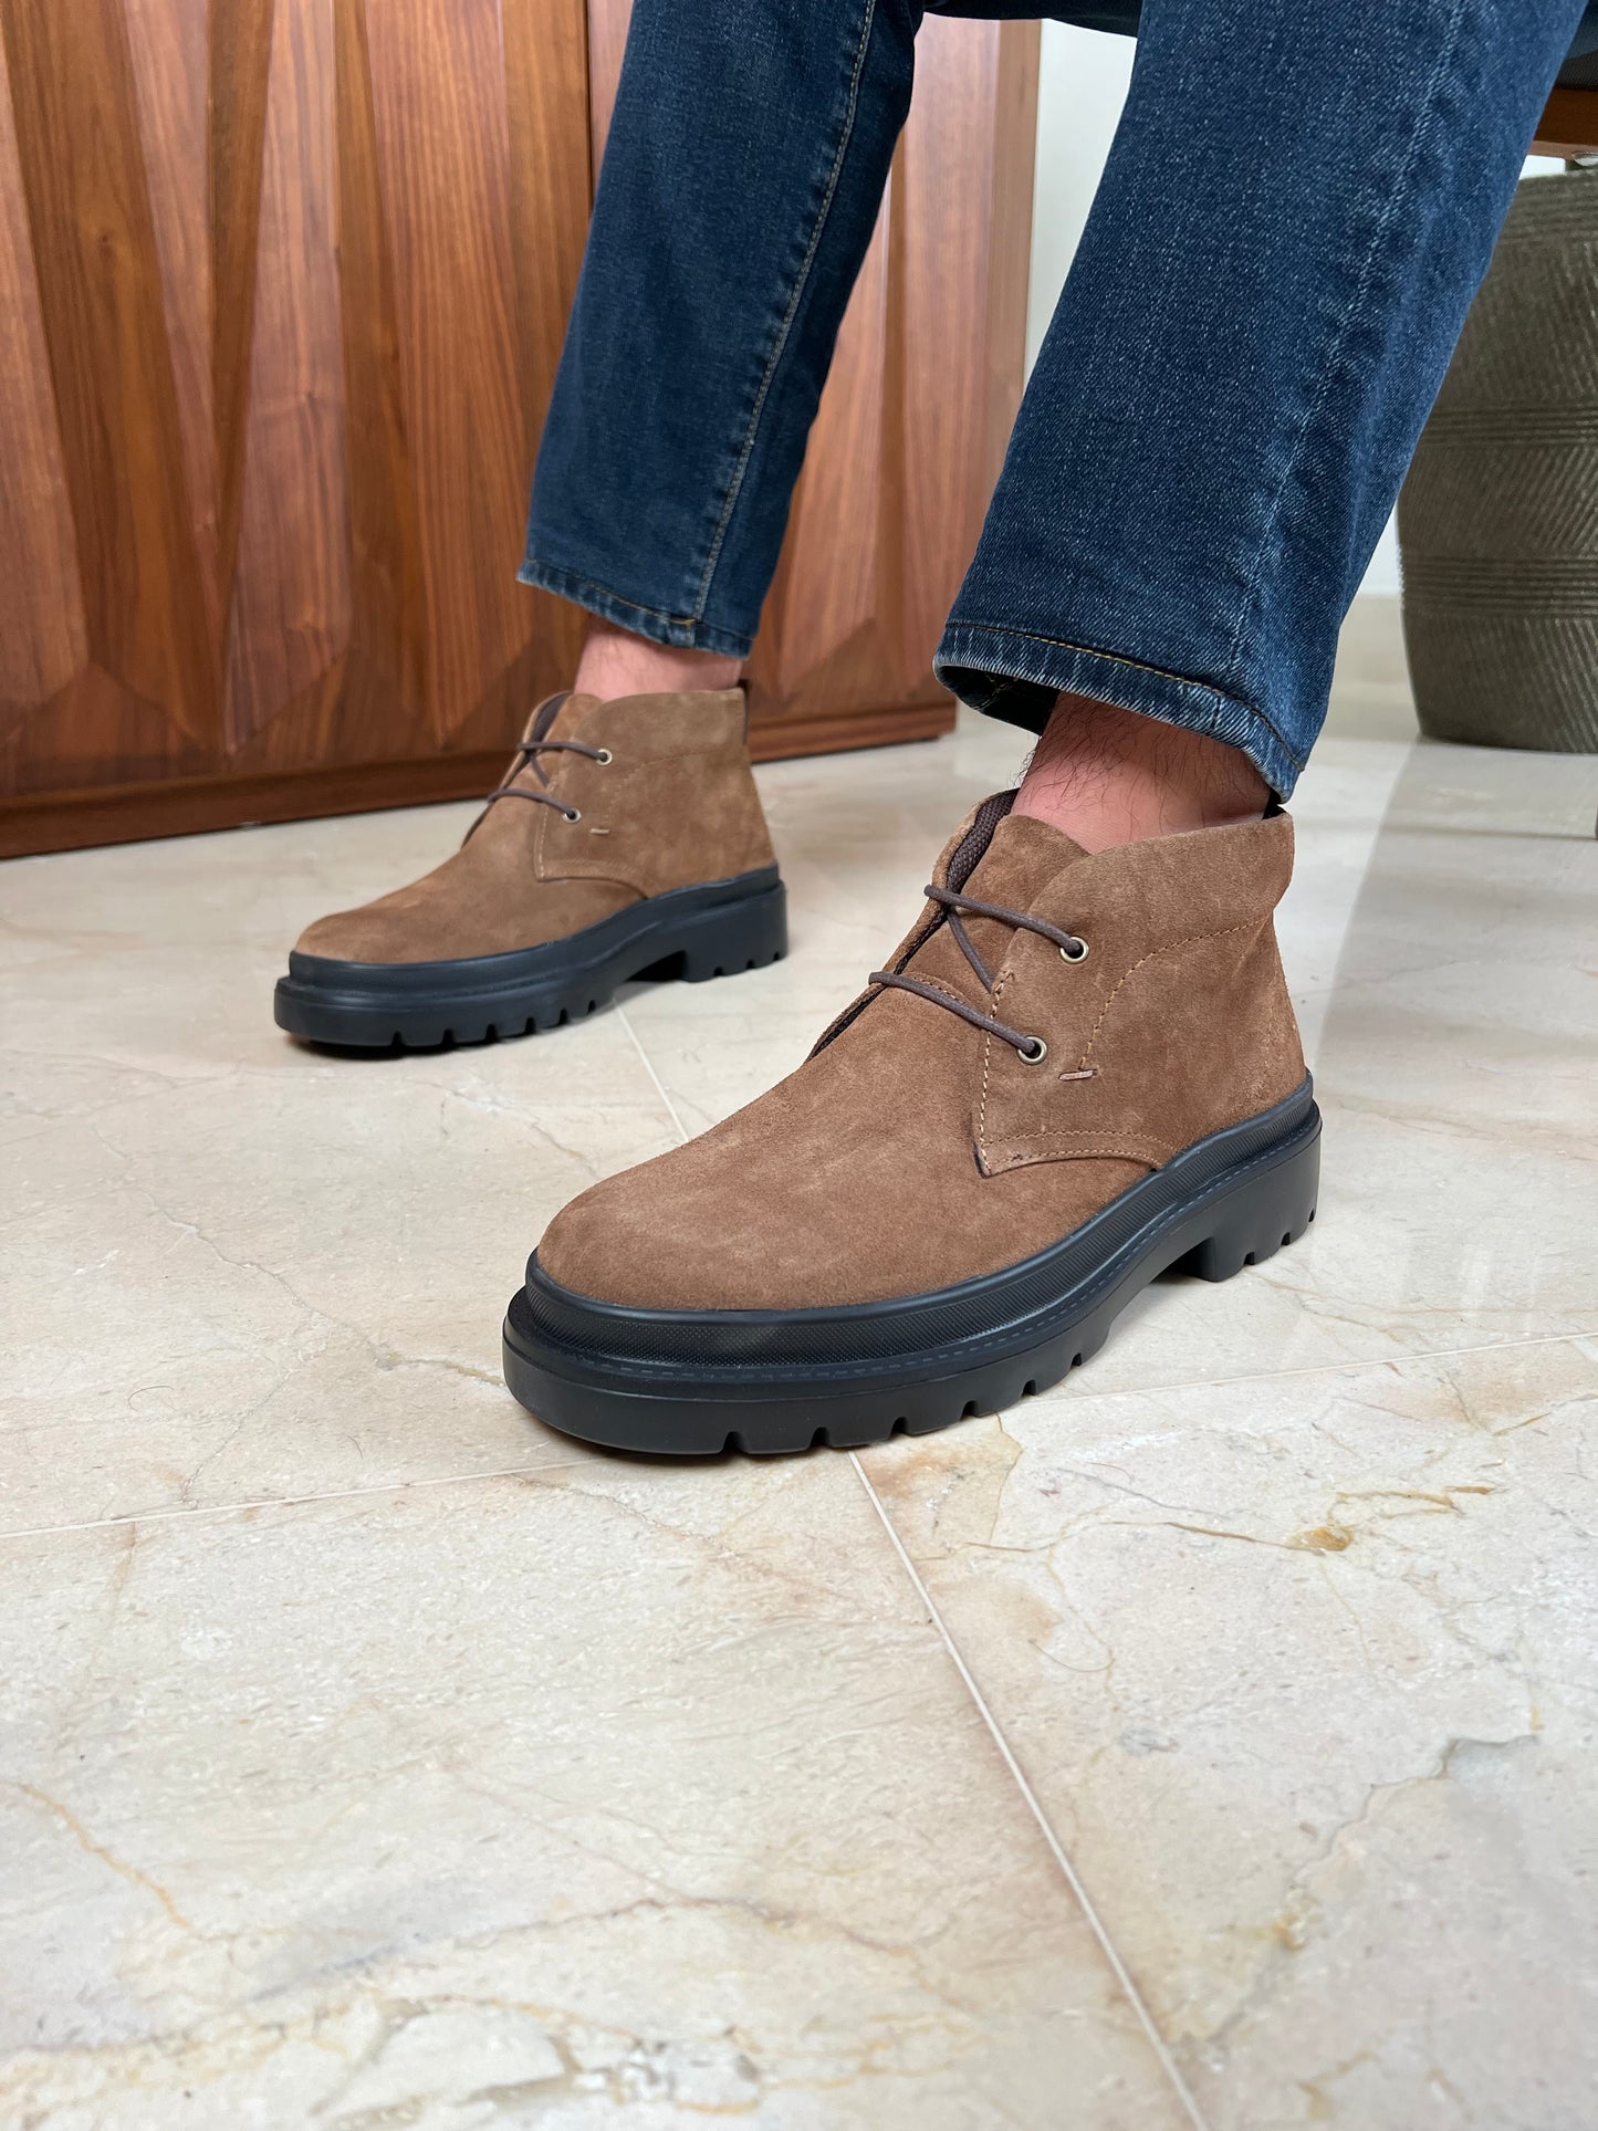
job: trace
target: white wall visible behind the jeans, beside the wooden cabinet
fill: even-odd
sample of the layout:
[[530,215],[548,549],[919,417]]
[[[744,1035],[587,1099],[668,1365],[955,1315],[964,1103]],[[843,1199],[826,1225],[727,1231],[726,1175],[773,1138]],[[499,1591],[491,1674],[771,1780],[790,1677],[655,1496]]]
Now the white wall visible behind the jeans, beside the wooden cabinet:
[[[1104,158],[1110,153],[1110,139],[1131,77],[1131,51],[1129,36],[1072,30],[1061,21],[1044,23],[1031,281],[1027,286],[1027,369],[1038,356],[1044,328],[1065,286],[1065,273],[1093,205]],[[1558,168],[1562,164],[1547,158],[1532,158],[1526,164],[1528,175]],[[1370,558],[1361,590],[1398,590],[1398,535],[1391,522]]]

